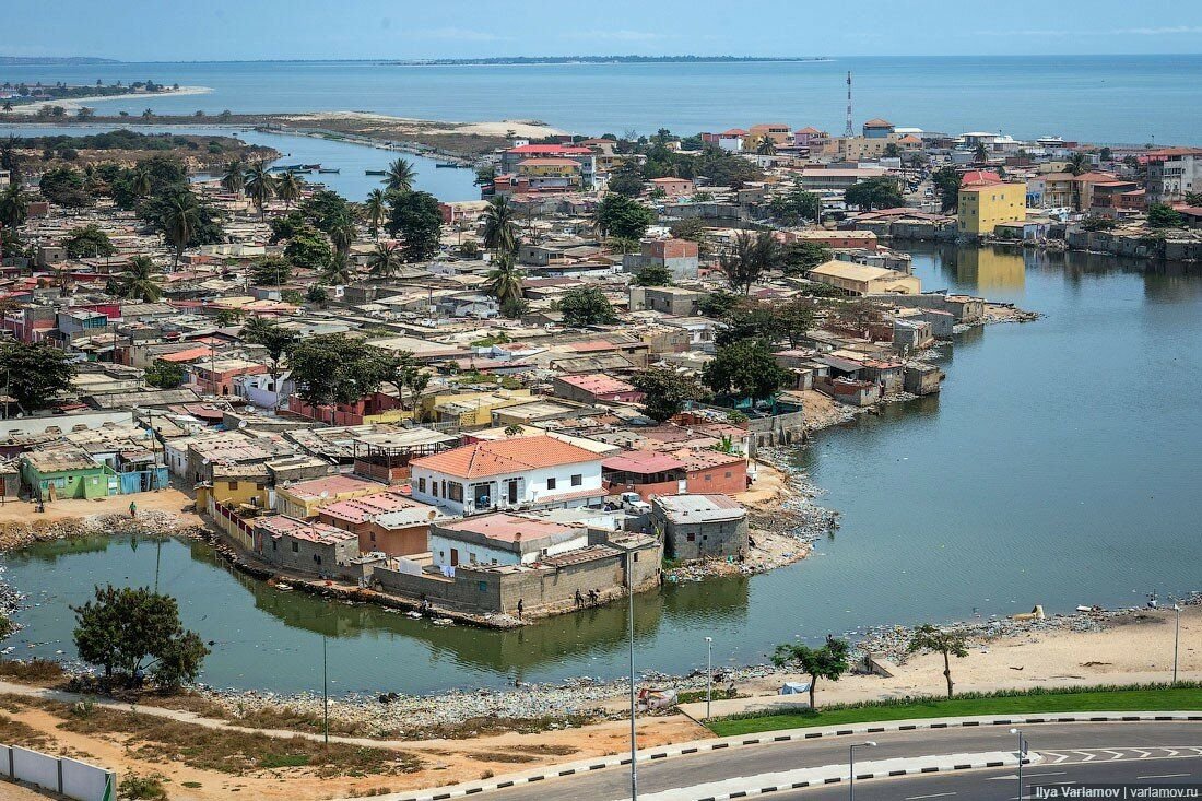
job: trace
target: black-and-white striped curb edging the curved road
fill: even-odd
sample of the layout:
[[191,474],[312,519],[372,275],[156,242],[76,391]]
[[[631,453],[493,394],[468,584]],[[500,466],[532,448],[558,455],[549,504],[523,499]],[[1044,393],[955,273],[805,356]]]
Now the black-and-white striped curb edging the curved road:
[[[1010,718],[995,718],[989,716],[977,716],[969,718],[930,718],[930,719],[912,719],[912,720],[893,720],[889,723],[865,723],[856,724],[851,726],[833,726],[826,729],[789,729],[781,732],[764,732],[758,736],[749,737],[725,737],[722,740],[700,740],[691,743],[682,743],[678,746],[670,746],[666,748],[650,748],[638,753],[638,763],[651,763],[661,759],[671,759],[673,756],[686,756],[689,754],[704,754],[715,750],[724,750],[727,748],[742,748],[744,746],[763,746],[775,742],[797,742],[802,740],[821,740],[831,737],[843,737],[847,735],[862,735],[862,734],[882,734],[889,731],[921,731],[924,729],[958,729],[958,728],[970,728],[970,726],[1011,726],[1017,724],[1036,724],[1036,723],[1154,723],[1154,722],[1202,722],[1202,712],[1161,712],[1161,713],[1123,713],[1123,712],[1093,712],[1088,714],[1059,714],[1059,716],[1030,716],[1030,717],[1010,717]],[[511,776],[508,778],[501,778],[498,782],[489,783],[468,783],[458,785],[448,785],[436,789],[429,789],[417,793],[416,795],[410,794],[397,794],[385,796],[387,801],[448,801],[450,799],[462,799],[464,796],[478,795],[481,793],[490,793],[494,790],[506,790],[514,787],[520,787],[523,784],[532,784],[535,782],[545,782],[554,778],[561,778],[565,776],[575,776],[577,773],[589,773],[591,771],[600,771],[607,767],[619,767],[621,765],[630,765],[630,756],[600,756],[596,759],[581,761],[581,763],[569,763],[565,765],[549,765],[540,773],[520,773]],[[968,770],[970,767],[1000,767],[998,765],[963,765],[956,766],[952,770]],[[935,769],[938,770],[938,769]],[[935,770],[928,770],[927,772],[935,772]],[[944,769],[947,770],[947,769]],[[893,773],[895,776],[903,776],[904,773]],[[861,775],[856,775],[856,778],[861,778]],[[873,778],[871,776],[864,776],[864,778]],[[833,779],[828,783],[837,783],[841,779]],[[807,785],[801,785],[807,787]],[[791,787],[776,788],[780,790],[793,789]],[[756,790],[755,793],[762,793],[764,790]],[[768,790],[770,791],[770,790]],[[742,795],[749,795],[744,793]],[[727,797],[742,797],[742,795],[736,794],[731,796],[715,796],[713,801],[720,801]],[[704,801],[704,800],[702,800]]]

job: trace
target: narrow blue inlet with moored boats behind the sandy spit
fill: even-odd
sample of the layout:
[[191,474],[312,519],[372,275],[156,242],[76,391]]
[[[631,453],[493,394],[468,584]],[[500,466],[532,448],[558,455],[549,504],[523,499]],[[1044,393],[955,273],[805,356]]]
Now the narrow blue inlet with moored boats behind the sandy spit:
[[[0,125],[0,138],[13,136],[85,136],[113,130],[112,125]],[[129,125],[144,134],[171,131],[172,134],[196,134],[200,136],[237,136],[248,144],[262,144],[280,152],[282,164],[320,164],[337,168],[338,173],[309,173],[307,182],[321,183],[347,200],[362,202],[373,189],[380,189],[379,176],[368,176],[368,170],[385,170],[393,159],[407,159],[417,171],[417,189],[430,192],[442,201],[480,200],[480,188],[475,185],[472,170],[440,170],[430,159],[351,144],[313,136],[260,134],[258,131],[203,125],[147,126]]]

